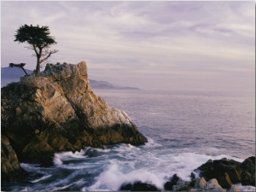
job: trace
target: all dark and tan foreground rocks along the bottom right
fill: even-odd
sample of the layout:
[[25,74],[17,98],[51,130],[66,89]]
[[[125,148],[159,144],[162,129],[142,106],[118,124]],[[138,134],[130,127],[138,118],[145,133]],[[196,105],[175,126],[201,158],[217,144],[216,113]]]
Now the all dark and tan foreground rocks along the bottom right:
[[[220,167],[221,164],[221,168]],[[234,169],[236,174],[234,174]],[[195,176],[200,173],[200,177]],[[164,184],[166,191],[254,191],[255,189],[255,157],[249,157],[242,163],[236,160],[208,160],[207,163],[191,172],[190,181],[185,181],[174,174]],[[224,177],[225,176],[225,177]],[[241,180],[238,180],[240,177]],[[229,178],[229,179],[227,179]],[[234,180],[236,178],[236,180]],[[227,179],[227,180],[224,180]],[[219,182],[220,181],[220,182]],[[230,181],[230,183],[225,183]],[[234,183],[232,183],[234,182]],[[241,186],[243,185],[243,186]],[[247,185],[247,186],[246,186]],[[152,183],[137,181],[134,183],[123,183],[119,190],[130,191],[161,191]]]

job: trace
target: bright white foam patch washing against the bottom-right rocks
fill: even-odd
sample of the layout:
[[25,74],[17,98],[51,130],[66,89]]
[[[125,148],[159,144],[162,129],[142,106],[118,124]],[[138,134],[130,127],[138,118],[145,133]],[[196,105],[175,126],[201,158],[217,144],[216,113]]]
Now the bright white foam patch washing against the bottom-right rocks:
[[[153,183],[163,189],[164,183],[177,173],[178,177],[190,180],[190,173],[207,160],[219,160],[225,155],[212,156],[207,154],[183,153],[170,154],[165,157],[155,157],[154,154],[145,154],[145,159],[122,162],[108,160],[108,166],[96,177],[96,183],[89,190],[118,190],[123,183],[142,181]],[[140,162],[142,161],[142,162]]]

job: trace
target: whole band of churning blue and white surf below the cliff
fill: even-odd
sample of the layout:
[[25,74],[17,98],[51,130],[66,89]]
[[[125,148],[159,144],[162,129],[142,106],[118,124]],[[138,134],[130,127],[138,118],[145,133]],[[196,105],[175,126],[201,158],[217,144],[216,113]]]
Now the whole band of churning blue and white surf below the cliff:
[[[124,183],[136,181],[152,183],[158,189],[164,189],[164,184],[174,174],[189,181],[191,172],[209,159],[242,161],[219,154],[218,148],[207,148],[207,153],[189,151],[191,148],[183,148],[181,151],[164,148],[149,138],[148,143],[140,147],[118,144],[105,146],[105,149],[84,148],[76,153],[57,153],[55,167],[51,168],[29,164],[21,166],[26,171],[44,173],[43,177],[32,180],[27,190],[113,191]],[[48,183],[47,186],[44,183]],[[245,186],[240,188],[252,189]]]

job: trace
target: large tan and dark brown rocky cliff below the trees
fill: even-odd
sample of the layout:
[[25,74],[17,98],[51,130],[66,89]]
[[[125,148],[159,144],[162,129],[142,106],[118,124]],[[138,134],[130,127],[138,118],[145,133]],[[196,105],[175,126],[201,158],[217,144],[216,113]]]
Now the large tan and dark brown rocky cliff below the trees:
[[19,160],[47,166],[55,152],[147,142],[125,112],[93,93],[87,75],[84,61],[47,65],[40,77],[2,88],[2,136]]

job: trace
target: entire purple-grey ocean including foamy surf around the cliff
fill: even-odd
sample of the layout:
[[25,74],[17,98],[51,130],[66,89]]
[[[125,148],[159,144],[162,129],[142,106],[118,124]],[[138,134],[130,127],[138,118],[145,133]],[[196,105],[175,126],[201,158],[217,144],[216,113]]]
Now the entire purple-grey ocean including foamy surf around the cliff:
[[148,143],[58,153],[52,167],[22,163],[27,172],[42,176],[2,183],[2,190],[113,191],[138,180],[164,189],[173,174],[189,181],[190,173],[209,159],[241,162],[255,156],[254,92],[94,92],[128,113]]

